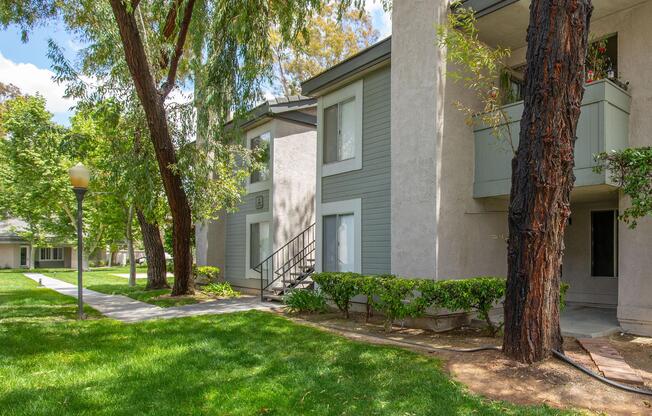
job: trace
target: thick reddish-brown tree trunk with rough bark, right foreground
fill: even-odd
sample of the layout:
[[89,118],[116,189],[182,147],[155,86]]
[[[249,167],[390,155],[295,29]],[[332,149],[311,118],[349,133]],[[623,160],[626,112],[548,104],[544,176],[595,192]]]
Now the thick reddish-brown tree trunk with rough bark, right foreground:
[[570,216],[575,132],[584,95],[590,0],[533,0],[525,103],[509,205],[505,354],[561,351],[559,284]]

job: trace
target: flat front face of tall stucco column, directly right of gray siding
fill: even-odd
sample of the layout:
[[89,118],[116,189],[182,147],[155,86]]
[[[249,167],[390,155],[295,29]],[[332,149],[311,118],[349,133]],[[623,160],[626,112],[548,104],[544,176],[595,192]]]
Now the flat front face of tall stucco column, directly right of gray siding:
[[392,9],[391,265],[403,276],[437,273],[443,72],[434,25],[445,9],[433,0]]

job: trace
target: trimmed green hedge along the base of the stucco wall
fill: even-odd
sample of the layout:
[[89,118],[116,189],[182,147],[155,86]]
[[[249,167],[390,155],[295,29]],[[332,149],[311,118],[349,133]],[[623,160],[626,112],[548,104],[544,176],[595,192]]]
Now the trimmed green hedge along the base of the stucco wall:
[[[390,331],[397,319],[417,318],[425,315],[429,307],[451,311],[477,312],[495,336],[502,324],[494,323],[489,312],[505,296],[505,279],[500,277],[474,277],[461,280],[402,279],[394,275],[363,276],[358,273],[315,273],[312,279],[321,291],[349,317],[351,299],[357,295],[367,297],[367,319],[371,310],[385,316],[385,330]],[[560,303],[568,285],[560,287]]]

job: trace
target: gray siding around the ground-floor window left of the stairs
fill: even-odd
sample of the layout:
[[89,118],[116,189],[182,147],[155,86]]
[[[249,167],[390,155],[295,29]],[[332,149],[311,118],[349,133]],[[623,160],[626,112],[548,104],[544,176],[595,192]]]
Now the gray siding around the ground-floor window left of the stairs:
[[[256,209],[256,196],[262,195],[264,205]],[[224,277],[227,280],[244,279],[247,253],[247,215],[269,211],[269,191],[255,192],[243,198],[240,209],[226,216],[226,247]]]

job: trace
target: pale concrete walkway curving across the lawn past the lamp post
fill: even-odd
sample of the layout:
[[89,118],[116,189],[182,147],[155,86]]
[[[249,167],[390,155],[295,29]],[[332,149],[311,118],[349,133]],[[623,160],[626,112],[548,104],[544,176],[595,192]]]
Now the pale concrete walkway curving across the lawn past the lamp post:
[[[25,273],[25,276],[41,282],[44,287],[63,295],[77,298],[77,286],[40,273]],[[256,296],[241,296],[234,299],[219,299],[193,305],[161,308],[122,295],[107,295],[84,289],[84,303],[112,319],[122,322],[140,322],[149,319],[183,318],[197,315],[216,315],[249,310],[268,311],[278,305],[261,302]]]

